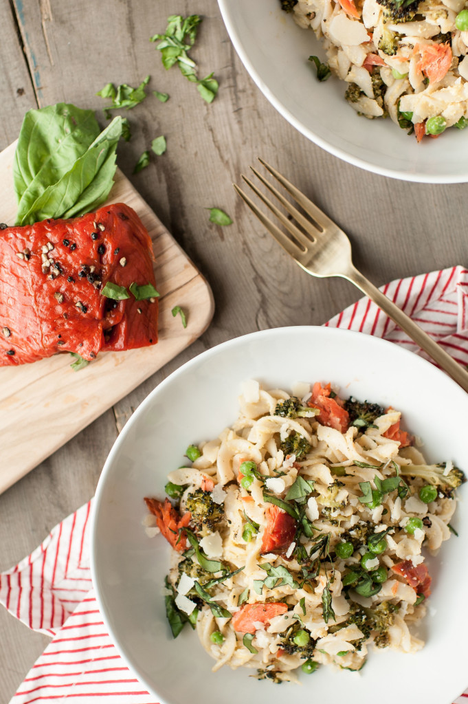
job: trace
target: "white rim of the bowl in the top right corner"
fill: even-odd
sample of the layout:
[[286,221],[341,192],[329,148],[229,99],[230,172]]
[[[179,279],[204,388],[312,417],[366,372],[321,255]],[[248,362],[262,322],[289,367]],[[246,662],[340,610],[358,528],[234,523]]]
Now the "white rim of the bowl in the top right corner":
[[260,77],[258,70],[256,70],[251,59],[248,57],[246,49],[244,49],[244,44],[242,42],[241,37],[239,36],[239,33],[236,32],[235,24],[232,21],[232,17],[230,14],[232,11],[232,0],[217,0],[217,2],[220,8],[222,20],[224,22],[224,25],[226,26],[229,38],[231,39],[232,44],[234,45],[236,54],[238,54],[248,74],[251,76],[251,79],[263,93],[265,98],[267,98],[267,100],[270,101],[272,106],[279,112],[279,114],[282,115],[282,117],[287,120],[290,125],[295,127],[298,132],[303,134],[304,137],[310,139],[310,142],[314,142],[314,144],[320,146],[320,148],[324,149],[324,151],[327,151],[328,153],[332,154],[333,156],[336,156],[337,158],[341,159],[342,161],[345,161],[348,164],[357,166],[360,169],[375,173],[379,176],[386,176],[388,178],[393,178],[401,181],[409,181],[412,183],[453,184],[468,182],[468,170],[465,175],[436,176],[424,175],[424,173],[422,172],[411,173],[398,169],[388,169],[383,166],[374,164],[371,161],[366,161],[365,159],[359,158],[358,156],[353,156],[347,153],[346,151],[343,151],[343,149],[339,149],[339,147],[334,146],[327,139],[322,139],[322,137],[318,137],[315,132],[312,132],[312,130],[308,129],[308,127],[305,127],[301,120],[298,120],[298,118],[296,118],[295,115],[293,115],[293,113],[291,113],[291,111],[289,111],[288,108],[284,106],[284,103],[279,100],[277,95],[267,86],[267,84],[265,84],[265,82]]

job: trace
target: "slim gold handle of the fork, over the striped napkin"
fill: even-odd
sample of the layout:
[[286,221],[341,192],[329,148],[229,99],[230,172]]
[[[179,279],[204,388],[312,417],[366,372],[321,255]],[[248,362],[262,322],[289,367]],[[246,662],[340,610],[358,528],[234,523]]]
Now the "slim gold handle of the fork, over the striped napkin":
[[412,340],[415,341],[424,352],[426,352],[447,374],[454,379],[457,384],[462,386],[464,391],[468,392],[468,372],[455,360],[445,352],[429,335],[417,325],[414,320],[403,313],[401,308],[393,303],[390,298],[387,298],[377,287],[372,284],[369,279],[361,274],[354,266],[341,274],[345,279],[355,284],[362,293],[377,303],[377,306],[391,318],[396,325],[400,327]]

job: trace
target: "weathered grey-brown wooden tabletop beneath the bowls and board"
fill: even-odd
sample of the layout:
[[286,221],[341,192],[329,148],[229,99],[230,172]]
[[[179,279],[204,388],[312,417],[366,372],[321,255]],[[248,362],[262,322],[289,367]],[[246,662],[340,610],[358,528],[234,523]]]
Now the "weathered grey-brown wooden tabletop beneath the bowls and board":
[[[203,15],[192,56],[200,75],[214,71],[220,82],[211,105],[176,68],[164,70],[148,41],[174,13]],[[105,124],[95,94],[107,82],[136,86],[149,74],[150,89],[170,94],[163,104],[148,91],[126,113],[134,136],[120,146],[118,163],[208,279],[216,304],[203,337],[0,496],[0,570],[6,570],[93,496],[118,432],[170,372],[254,330],[321,325],[359,297],[343,280],[302,274],[236,196],[232,182],[258,154],[341,224],[355,264],[375,284],[468,262],[466,186],[386,179],[308,142],[253,84],[216,0],[0,0],[0,23],[0,149],[18,136],[25,111],[37,106],[68,101],[95,108]],[[160,134],[167,153],[132,175]],[[204,208],[211,206],[229,213],[234,225],[210,224]],[[0,704],[6,704],[49,639],[3,608],[0,634]]]

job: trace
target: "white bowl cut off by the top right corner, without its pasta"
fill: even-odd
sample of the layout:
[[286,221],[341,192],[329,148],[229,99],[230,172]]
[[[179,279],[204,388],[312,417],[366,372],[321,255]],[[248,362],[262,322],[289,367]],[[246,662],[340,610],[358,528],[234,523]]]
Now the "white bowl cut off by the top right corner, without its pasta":
[[317,81],[308,57],[325,60],[320,42],[282,11],[279,0],[218,3],[248,73],[277,111],[312,142],[383,176],[426,183],[468,181],[466,134],[448,130],[440,139],[417,144],[414,134],[408,137],[390,118],[360,117],[344,98],[343,81]]

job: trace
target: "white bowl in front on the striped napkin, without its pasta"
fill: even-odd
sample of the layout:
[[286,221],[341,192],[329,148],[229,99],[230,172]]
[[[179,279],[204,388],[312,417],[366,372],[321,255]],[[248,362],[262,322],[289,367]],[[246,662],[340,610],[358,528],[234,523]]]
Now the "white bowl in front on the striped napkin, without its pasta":
[[[186,363],[141,403],[104,466],[92,520],[91,568],[108,632],[127,665],[162,704],[284,704],[301,696],[321,704],[451,704],[468,684],[466,581],[468,515],[459,506],[460,537],[429,562],[433,596],[416,655],[372,652],[361,673],[321,667],[301,675],[303,688],[248,677],[214,661],[194,631],[173,640],[162,596],[170,548],[141,525],[144,496],[164,494],[167,472],[191,443],[215,438],[238,413],[241,383],[291,389],[296,381],[331,381],[344,393],[403,411],[425,441],[429,460],[468,467],[468,396],[433,365],[390,342],[327,327],[255,332]],[[464,494],[462,490],[460,492]],[[443,676],[439,676],[443,673]],[[235,694],[234,694],[235,693]],[[403,698],[402,698],[403,697]]]

